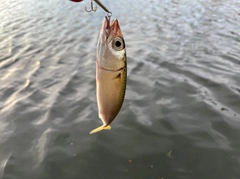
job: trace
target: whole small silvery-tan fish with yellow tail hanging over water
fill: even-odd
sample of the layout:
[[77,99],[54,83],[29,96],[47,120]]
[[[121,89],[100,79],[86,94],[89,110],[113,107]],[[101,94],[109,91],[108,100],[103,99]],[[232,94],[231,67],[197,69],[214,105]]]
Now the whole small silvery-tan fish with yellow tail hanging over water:
[[119,113],[127,84],[125,41],[117,19],[103,19],[96,53],[96,96],[98,117],[102,126],[90,134],[110,130],[110,123]]

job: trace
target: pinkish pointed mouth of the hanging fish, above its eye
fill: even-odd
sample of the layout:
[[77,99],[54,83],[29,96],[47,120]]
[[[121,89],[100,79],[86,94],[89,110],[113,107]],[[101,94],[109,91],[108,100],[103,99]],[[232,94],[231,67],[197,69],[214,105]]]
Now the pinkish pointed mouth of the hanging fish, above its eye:
[[117,19],[114,19],[110,22],[110,19],[105,17],[101,29],[102,42],[110,41],[112,37],[116,36],[119,30],[120,27]]

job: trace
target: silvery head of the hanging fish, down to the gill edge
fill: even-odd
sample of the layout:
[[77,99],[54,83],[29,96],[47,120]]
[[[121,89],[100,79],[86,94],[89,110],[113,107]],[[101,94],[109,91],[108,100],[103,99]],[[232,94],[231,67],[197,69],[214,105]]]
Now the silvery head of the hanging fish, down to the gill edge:
[[97,61],[100,67],[117,71],[126,66],[125,42],[117,19],[105,17],[98,40]]

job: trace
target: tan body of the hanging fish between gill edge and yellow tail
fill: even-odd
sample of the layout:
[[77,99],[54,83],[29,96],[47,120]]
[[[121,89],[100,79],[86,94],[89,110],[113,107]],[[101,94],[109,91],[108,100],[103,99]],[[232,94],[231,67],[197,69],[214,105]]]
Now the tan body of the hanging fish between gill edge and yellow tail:
[[97,64],[97,103],[98,115],[104,125],[109,125],[121,109],[125,88],[125,70],[107,71],[98,67]]

